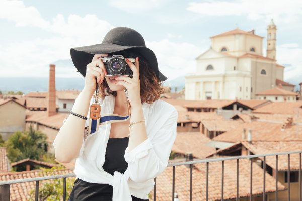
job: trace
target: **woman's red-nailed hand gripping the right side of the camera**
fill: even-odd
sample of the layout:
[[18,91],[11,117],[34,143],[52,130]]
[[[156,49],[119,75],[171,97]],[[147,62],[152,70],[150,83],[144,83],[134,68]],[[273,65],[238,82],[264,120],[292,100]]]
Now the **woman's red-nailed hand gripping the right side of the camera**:
[[130,78],[128,76],[119,76],[116,77],[115,82],[116,85],[124,86],[128,91],[128,100],[130,102],[131,108],[141,106],[141,99],[140,99],[140,80],[139,80],[139,61],[138,57],[135,58],[135,65],[125,59],[126,63],[130,67],[133,72],[133,77]]

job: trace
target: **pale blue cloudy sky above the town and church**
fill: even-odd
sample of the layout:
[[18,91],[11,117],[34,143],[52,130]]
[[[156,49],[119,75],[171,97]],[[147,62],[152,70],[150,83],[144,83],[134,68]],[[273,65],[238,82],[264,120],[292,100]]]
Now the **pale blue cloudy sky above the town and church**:
[[[240,28],[263,39],[273,19],[276,59],[284,80],[302,81],[302,1],[237,0],[0,0],[1,77],[48,77],[49,64],[65,63],[58,77],[81,77],[70,48],[101,43],[114,27],[130,27],[145,39],[168,80],[194,73],[195,58],[210,48],[211,36]],[[68,62],[67,62],[68,63]]]

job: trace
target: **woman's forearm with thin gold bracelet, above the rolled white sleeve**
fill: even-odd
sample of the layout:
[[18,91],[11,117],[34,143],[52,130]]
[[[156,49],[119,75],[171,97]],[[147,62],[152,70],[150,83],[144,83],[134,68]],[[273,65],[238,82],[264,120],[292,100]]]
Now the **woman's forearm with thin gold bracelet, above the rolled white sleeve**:
[[[142,105],[132,107],[130,122],[138,122],[143,119],[144,116],[142,111]],[[130,152],[132,149],[134,149],[137,145],[145,141],[147,138],[148,137],[145,122],[133,124],[130,129],[128,151]]]

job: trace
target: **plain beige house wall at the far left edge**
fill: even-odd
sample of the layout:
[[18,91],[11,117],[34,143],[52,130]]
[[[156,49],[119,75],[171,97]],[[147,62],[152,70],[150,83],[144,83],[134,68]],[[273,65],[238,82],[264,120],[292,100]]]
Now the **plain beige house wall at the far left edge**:
[[26,108],[10,101],[0,106],[0,134],[7,140],[16,131],[24,131]]

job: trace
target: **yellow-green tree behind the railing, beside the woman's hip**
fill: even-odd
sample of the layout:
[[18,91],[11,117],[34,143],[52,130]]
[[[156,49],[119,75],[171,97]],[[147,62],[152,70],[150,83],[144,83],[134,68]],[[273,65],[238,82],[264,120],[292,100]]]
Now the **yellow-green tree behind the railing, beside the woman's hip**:
[[[58,175],[56,170],[64,169],[63,166],[56,166],[50,169],[40,168],[42,169],[39,172],[39,176],[50,176],[50,175]],[[66,178],[66,200],[69,197],[72,187],[74,184],[75,178],[68,177]],[[41,201],[57,201],[63,200],[63,178],[60,179],[50,179],[45,180],[39,185],[39,200]],[[35,200],[35,189],[32,189],[30,192],[30,201]]]

